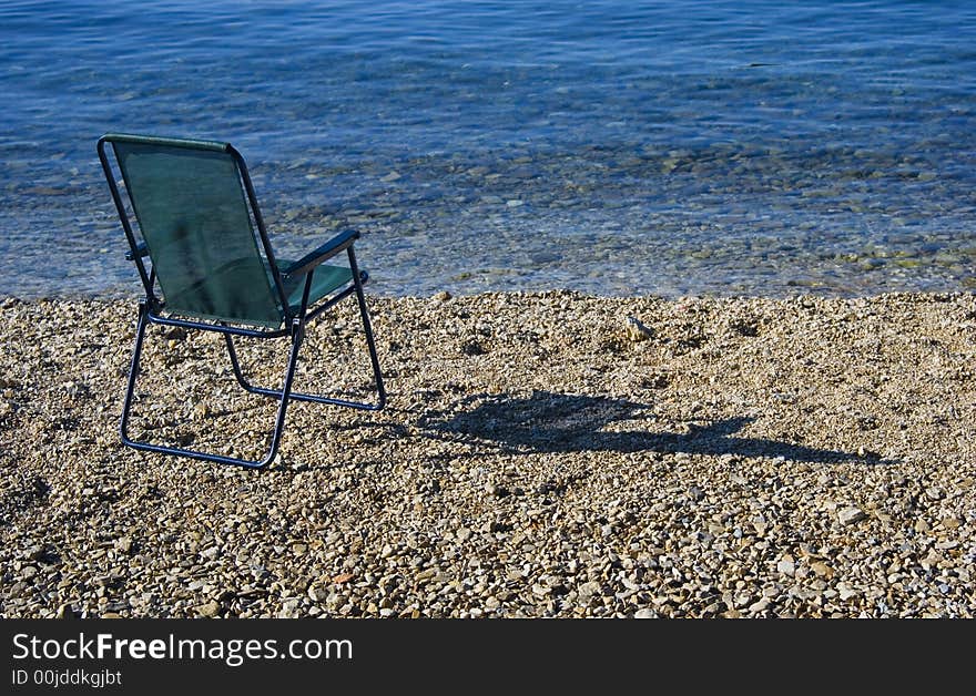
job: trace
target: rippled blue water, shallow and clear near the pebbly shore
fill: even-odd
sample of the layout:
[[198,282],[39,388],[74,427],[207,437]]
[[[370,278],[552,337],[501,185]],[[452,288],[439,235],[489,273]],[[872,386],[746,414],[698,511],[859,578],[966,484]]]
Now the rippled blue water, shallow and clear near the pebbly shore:
[[136,291],[106,131],[225,140],[370,291],[976,286],[976,3],[0,3],[0,295]]

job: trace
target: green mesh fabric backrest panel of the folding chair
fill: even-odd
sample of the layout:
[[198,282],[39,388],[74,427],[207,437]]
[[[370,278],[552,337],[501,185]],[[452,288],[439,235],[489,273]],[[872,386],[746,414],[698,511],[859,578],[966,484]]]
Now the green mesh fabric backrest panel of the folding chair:
[[233,154],[205,142],[112,146],[166,310],[281,326],[285,310]]

